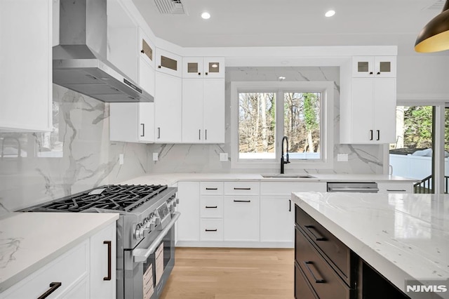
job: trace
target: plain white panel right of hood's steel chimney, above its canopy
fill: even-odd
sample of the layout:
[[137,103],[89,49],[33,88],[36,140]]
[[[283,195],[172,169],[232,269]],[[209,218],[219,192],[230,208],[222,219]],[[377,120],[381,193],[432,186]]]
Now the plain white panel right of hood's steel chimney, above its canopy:
[[138,82],[138,26],[119,0],[107,1],[107,60]]

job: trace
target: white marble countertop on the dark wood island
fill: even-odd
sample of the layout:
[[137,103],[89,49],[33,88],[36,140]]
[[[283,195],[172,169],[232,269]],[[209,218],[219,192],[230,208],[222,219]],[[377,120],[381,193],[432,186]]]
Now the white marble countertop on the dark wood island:
[[292,199],[401,290],[405,279],[449,279],[449,195],[297,192]]

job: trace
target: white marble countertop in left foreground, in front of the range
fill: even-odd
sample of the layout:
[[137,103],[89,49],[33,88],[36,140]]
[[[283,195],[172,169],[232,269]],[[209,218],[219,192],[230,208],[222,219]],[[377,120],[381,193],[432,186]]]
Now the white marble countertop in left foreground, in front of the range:
[[118,213],[10,213],[0,218],[0,293],[118,218]]

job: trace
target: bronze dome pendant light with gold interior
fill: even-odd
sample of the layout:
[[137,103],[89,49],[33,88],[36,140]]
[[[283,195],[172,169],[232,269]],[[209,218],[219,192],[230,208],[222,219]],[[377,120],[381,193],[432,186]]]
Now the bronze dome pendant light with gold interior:
[[449,49],[449,0],[443,11],[430,20],[421,30],[415,42],[415,51],[422,53],[438,52]]

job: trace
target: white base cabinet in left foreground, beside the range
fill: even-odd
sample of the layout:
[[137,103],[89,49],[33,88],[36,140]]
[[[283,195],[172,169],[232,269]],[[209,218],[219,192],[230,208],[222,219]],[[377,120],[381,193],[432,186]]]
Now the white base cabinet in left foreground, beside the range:
[[113,222],[0,293],[0,298],[39,298],[46,292],[51,292],[48,298],[116,298],[115,269]]

